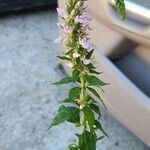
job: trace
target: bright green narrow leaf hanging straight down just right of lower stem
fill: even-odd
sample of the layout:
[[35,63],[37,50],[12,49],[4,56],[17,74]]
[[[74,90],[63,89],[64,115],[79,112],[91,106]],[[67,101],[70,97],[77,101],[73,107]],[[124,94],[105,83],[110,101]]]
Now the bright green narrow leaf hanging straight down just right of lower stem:
[[88,125],[90,127],[91,132],[94,131],[93,125],[94,125],[94,113],[91,110],[90,107],[86,106],[83,108],[83,113],[87,119]]

